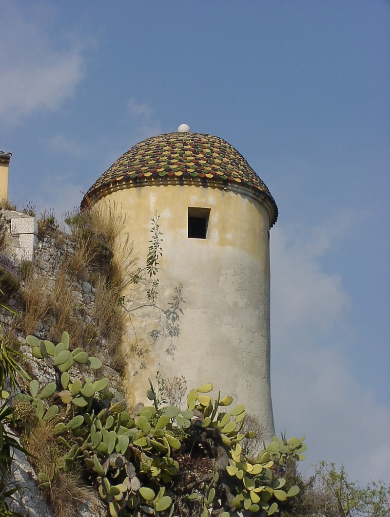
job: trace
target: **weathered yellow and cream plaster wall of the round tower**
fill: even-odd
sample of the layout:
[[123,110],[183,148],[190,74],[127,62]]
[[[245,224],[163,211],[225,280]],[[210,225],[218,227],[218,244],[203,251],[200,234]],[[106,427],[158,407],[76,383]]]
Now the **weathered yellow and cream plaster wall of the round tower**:
[[[244,403],[271,436],[269,219],[265,208],[238,191],[189,185],[125,189],[98,203],[108,202],[127,214],[123,239],[128,233],[141,262],[148,253],[151,218],[160,216],[163,256],[158,272],[161,297],[156,304],[168,307],[178,286],[185,300],[177,337],[164,335],[164,315],[158,310],[133,312],[134,328],[129,326],[124,343],[130,356],[130,402],[145,398],[148,377],[154,378],[156,370],[163,377],[184,375],[189,388],[212,382],[223,396],[230,394],[236,403]],[[187,237],[189,207],[210,208],[206,239]],[[137,306],[134,285],[124,294],[129,308]],[[153,326],[162,330],[155,342],[149,335]],[[138,349],[147,349],[149,354],[132,354],[135,341]]]

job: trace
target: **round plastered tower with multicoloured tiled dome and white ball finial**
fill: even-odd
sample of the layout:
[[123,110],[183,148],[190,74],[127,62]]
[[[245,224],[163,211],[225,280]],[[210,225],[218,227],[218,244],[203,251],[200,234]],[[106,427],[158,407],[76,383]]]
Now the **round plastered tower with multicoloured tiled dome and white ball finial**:
[[[181,125],[129,149],[88,203],[126,216],[123,240],[140,261],[159,217],[159,308],[133,311],[123,342],[129,402],[145,399],[156,371],[183,375],[188,389],[211,382],[245,404],[271,436],[269,229],[278,208],[263,181],[232,145]],[[123,293],[133,307],[134,290]]]

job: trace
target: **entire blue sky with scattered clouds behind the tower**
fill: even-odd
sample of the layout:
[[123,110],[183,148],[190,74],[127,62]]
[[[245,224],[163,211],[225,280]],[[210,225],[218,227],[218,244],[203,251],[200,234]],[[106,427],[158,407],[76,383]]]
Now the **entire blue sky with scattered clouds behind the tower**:
[[307,436],[307,465],[390,479],[390,3],[1,6],[10,199],[61,217],[129,147],[181,123],[233,144],[280,210],[277,431]]

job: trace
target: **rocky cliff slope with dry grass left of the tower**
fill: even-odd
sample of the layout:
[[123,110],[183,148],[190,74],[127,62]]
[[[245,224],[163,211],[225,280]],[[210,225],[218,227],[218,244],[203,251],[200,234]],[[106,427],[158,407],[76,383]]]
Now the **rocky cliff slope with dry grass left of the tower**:
[[[19,221],[18,225],[11,225],[11,220]],[[17,230],[21,227],[20,221],[34,236],[33,239],[23,234],[22,244],[28,239],[34,251],[31,248],[26,253],[21,246],[20,235],[15,231],[15,227]],[[72,348],[83,346],[91,355],[102,359],[99,374],[109,379],[111,390],[104,396],[112,396],[115,390],[121,392],[120,352],[116,349],[120,343],[120,328],[113,329],[110,325],[111,318],[118,323],[115,313],[118,307],[110,307],[113,293],[106,284],[107,261],[101,264],[98,260],[90,261],[88,253],[80,253],[78,239],[60,231],[55,223],[41,224],[38,231],[34,218],[16,211],[3,211],[0,246],[1,301],[12,311],[0,310],[2,334],[5,343],[24,354],[22,364],[28,375],[41,386],[55,381],[53,369],[42,361],[38,364],[34,358],[31,346],[26,344],[26,335],[58,342],[66,330]],[[102,300],[104,292],[108,295],[106,304]],[[100,297],[98,303],[97,296]],[[75,366],[69,373],[75,377],[80,371]],[[22,383],[23,388],[26,389],[26,385]],[[19,431],[23,434],[22,429]],[[54,513],[50,505],[38,493],[34,461],[31,464],[20,451],[15,451],[14,458],[9,484],[19,486],[20,490],[14,494],[10,508],[26,517],[51,517]],[[104,505],[92,494],[90,501],[81,501],[75,513],[105,514]]]

